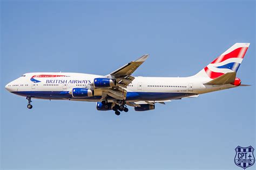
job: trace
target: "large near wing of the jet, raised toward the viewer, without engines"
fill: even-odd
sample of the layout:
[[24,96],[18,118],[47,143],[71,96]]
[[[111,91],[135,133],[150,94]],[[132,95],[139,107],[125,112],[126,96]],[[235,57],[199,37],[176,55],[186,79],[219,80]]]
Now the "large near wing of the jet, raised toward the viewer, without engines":
[[114,70],[114,72],[105,75],[100,78],[106,78],[116,81],[116,85],[113,87],[96,88],[91,84],[92,89],[95,91],[102,91],[102,99],[106,96],[111,96],[117,100],[125,100],[126,98],[126,87],[134,80],[131,75],[142,63],[149,57],[149,54],[145,54],[136,61],[131,61],[123,67]]

